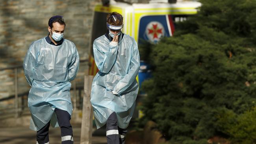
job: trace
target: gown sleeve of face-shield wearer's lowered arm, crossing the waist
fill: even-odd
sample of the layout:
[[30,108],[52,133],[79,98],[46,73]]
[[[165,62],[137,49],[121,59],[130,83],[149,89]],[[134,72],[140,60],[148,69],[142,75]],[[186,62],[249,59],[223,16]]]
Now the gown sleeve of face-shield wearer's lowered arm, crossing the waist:
[[130,69],[128,70],[128,73],[115,85],[114,91],[116,91],[118,94],[121,94],[124,90],[126,90],[130,85],[134,82],[136,79],[136,76],[139,73],[139,50],[137,43],[134,41],[133,45],[133,53],[132,53],[132,59],[130,63]]

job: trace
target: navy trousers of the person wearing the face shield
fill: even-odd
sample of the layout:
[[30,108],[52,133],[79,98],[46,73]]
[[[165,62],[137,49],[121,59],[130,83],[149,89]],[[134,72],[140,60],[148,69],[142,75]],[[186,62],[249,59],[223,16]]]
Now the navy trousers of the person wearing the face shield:
[[117,114],[110,114],[106,123],[106,136],[108,144],[124,144],[127,130],[121,129],[117,124]]

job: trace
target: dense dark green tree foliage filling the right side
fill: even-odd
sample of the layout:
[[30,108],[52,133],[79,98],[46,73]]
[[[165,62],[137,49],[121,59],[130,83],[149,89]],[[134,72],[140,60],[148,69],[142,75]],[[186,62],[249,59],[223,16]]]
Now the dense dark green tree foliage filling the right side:
[[256,1],[200,2],[198,14],[180,22],[174,37],[148,45],[154,70],[143,83],[143,120],[156,122],[173,143],[199,144],[215,135],[243,142],[250,136],[230,129],[249,124],[243,117],[255,106]]

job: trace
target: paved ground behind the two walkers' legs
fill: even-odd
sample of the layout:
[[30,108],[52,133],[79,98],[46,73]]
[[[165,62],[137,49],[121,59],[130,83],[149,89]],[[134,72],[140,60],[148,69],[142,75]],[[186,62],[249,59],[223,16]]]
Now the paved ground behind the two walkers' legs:
[[[92,144],[107,144],[105,128],[93,132]],[[80,125],[73,125],[74,144],[80,144]],[[0,144],[36,144],[36,132],[28,127],[0,128]],[[50,127],[50,144],[61,144],[59,127]]]

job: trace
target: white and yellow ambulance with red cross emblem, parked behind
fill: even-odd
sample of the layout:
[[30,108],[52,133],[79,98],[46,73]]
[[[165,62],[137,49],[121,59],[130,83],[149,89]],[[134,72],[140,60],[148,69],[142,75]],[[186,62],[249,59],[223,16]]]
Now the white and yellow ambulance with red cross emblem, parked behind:
[[[145,40],[157,43],[161,37],[173,36],[176,22],[197,14],[197,8],[200,6],[201,3],[195,0],[177,0],[176,3],[169,3],[168,0],[150,0],[147,4],[129,4],[110,0],[110,3],[96,5],[89,53],[89,75],[95,76],[98,72],[93,56],[93,41],[107,32],[108,13],[117,12],[123,16],[122,32],[134,37],[138,44]],[[145,69],[145,66],[141,66],[141,69],[143,68]],[[137,78],[141,84],[144,78],[139,79]]]

